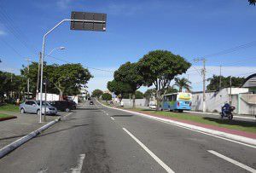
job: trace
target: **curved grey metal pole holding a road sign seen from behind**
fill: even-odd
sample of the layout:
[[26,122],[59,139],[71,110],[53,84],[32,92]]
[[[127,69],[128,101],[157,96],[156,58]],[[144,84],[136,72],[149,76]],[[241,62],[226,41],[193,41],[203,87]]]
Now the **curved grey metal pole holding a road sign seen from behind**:
[[41,58],[41,78],[40,78],[40,120],[39,123],[42,123],[42,97],[43,97],[43,68],[44,68],[44,47],[46,37],[50,32],[54,31],[56,27],[61,26],[65,21],[70,21],[71,30],[83,30],[83,31],[106,31],[106,20],[107,14],[99,13],[88,13],[88,12],[72,12],[71,19],[61,20],[53,28],[46,32],[43,37],[43,48],[42,48],[42,58]]

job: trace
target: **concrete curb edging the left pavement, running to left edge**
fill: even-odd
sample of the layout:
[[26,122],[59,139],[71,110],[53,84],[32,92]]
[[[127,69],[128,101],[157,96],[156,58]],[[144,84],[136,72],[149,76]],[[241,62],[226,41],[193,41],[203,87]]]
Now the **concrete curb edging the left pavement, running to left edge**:
[[17,147],[20,147],[22,144],[26,143],[26,141],[31,140],[35,136],[38,136],[42,131],[48,129],[50,126],[52,126],[53,124],[55,124],[59,121],[61,121],[61,118],[55,118],[55,120],[49,122],[48,124],[45,124],[44,126],[40,127],[38,130],[34,130],[27,136],[23,136],[20,139],[13,141],[9,145],[1,148],[0,149],[0,159],[3,158],[6,154],[15,150]]

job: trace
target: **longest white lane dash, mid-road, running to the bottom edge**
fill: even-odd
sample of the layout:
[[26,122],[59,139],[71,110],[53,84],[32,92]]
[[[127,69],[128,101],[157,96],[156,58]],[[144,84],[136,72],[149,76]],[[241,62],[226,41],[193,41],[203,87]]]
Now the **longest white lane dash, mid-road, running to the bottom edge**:
[[130,131],[126,130],[125,128],[123,128],[123,130],[125,130],[125,132],[131,136],[131,138],[136,141],[141,147],[143,147],[143,149],[158,163],[160,164],[167,172],[169,173],[174,173],[174,171],[169,167],[167,166],[162,160],[160,160],[153,152],[151,152],[148,147],[146,147],[143,142],[139,141],[135,136],[133,136],[131,134]]

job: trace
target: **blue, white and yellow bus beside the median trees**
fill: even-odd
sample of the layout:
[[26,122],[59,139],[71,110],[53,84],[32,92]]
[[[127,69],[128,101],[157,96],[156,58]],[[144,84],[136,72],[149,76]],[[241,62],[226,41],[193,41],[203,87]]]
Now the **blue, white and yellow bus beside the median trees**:
[[183,112],[183,110],[191,110],[191,105],[191,93],[172,93],[164,95],[160,110]]

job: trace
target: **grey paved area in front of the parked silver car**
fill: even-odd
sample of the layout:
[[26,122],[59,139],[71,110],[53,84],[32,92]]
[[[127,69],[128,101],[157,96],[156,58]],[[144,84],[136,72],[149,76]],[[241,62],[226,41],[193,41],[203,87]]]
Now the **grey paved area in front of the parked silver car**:
[[[5,113],[10,114],[10,112]],[[40,124],[36,114],[20,114],[20,112],[11,112],[11,114],[17,118],[0,122],[0,148],[26,136],[56,118],[56,116],[47,116],[47,122]]]

